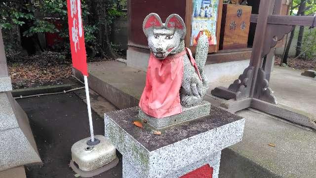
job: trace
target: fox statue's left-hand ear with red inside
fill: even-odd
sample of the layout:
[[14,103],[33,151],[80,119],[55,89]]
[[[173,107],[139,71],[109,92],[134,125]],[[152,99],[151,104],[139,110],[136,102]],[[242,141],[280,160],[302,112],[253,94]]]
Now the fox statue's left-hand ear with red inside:
[[161,29],[163,25],[157,13],[150,13],[145,17],[143,22],[143,31],[146,37],[148,37],[149,34],[153,34],[154,28]]

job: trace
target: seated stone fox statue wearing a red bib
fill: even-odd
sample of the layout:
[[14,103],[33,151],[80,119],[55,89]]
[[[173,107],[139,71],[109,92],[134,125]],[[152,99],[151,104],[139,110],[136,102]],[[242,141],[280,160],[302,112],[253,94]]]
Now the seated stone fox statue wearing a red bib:
[[207,36],[199,37],[194,59],[184,45],[186,26],[179,15],[171,14],[162,23],[158,14],[150,13],[143,22],[143,31],[151,56],[140,108],[161,118],[181,113],[181,105],[191,107],[200,103],[208,89],[204,73]]

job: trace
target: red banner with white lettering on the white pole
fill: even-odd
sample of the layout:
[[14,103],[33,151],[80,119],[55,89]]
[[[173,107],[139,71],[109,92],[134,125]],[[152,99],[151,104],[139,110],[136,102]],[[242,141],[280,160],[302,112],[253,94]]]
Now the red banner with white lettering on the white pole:
[[67,0],[67,9],[73,66],[83,75],[88,76],[80,0]]

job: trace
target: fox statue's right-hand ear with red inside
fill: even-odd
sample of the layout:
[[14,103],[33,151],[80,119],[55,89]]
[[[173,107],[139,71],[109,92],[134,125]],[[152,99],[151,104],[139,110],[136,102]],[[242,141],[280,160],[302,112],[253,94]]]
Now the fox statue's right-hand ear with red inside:
[[178,30],[181,34],[181,40],[186,36],[186,25],[184,24],[183,19],[178,14],[171,14],[167,17],[166,22],[164,24],[167,29],[175,29]]

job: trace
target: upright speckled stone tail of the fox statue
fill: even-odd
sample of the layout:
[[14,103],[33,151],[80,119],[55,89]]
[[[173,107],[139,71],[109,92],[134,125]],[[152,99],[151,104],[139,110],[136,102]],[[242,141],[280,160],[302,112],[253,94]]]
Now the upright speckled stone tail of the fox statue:
[[197,41],[197,50],[196,50],[195,60],[197,63],[197,68],[202,78],[203,94],[205,94],[208,89],[208,80],[204,72],[207,53],[208,53],[208,38],[206,35],[201,35]]

